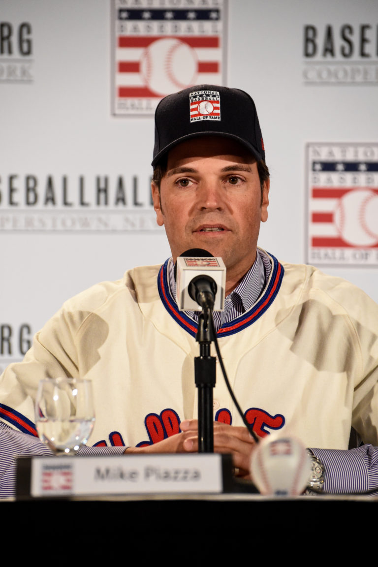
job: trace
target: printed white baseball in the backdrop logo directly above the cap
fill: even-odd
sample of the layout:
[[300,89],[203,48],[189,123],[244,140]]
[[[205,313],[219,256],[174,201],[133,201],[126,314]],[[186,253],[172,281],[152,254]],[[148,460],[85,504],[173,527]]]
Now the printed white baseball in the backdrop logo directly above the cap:
[[197,56],[184,41],[167,37],[151,43],[142,54],[143,79],[158,95],[169,95],[196,83]]

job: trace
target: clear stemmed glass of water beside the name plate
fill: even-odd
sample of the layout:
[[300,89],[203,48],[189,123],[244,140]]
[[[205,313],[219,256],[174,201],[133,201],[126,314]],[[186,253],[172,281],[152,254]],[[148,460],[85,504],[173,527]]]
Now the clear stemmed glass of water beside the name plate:
[[91,381],[74,378],[41,380],[35,413],[41,441],[56,455],[74,455],[86,445],[95,422]]

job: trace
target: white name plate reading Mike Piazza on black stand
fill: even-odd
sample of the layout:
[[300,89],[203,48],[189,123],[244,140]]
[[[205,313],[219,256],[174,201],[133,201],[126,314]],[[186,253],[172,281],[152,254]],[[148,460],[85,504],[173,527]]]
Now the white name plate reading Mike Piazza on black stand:
[[17,494],[21,498],[218,494],[224,492],[225,477],[231,477],[230,455],[32,457],[18,459]]

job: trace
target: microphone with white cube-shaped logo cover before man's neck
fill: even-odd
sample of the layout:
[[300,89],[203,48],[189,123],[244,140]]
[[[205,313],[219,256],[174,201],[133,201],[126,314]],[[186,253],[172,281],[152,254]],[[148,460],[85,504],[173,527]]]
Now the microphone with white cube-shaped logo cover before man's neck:
[[226,266],[202,248],[186,250],[175,265],[176,301],[180,311],[223,311]]

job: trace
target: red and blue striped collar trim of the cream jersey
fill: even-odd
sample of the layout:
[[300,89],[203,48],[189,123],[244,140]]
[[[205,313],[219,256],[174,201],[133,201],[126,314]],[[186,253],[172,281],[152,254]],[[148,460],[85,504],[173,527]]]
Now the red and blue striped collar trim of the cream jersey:
[[[282,278],[284,274],[283,265],[270,254],[273,260],[273,268],[271,270],[271,277],[269,285],[266,290],[261,295],[257,303],[254,304],[252,309],[240,315],[230,323],[224,324],[218,332],[216,333],[219,337],[227,337],[228,335],[233,335],[252,325],[254,321],[260,319],[261,315],[270,307],[273,303],[275,297],[278,294],[279,288],[281,287]],[[169,293],[168,287],[168,261],[165,261],[164,265],[159,270],[158,275],[158,290],[160,299],[163,302],[165,309],[168,311],[169,315],[175,319],[176,323],[180,325],[185,331],[187,331],[193,337],[197,334],[197,323],[190,319],[183,311],[179,311],[177,304],[173,301],[171,294]]]

